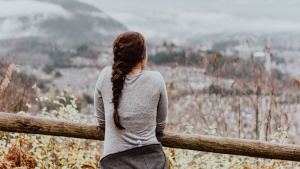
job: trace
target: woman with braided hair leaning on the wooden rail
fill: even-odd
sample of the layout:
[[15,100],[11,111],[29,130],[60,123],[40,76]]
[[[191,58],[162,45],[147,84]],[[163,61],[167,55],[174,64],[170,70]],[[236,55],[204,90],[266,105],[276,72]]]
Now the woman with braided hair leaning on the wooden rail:
[[113,55],[113,65],[99,75],[94,96],[95,115],[105,130],[100,168],[169,168],[156,138],[166,125],[167,90],[160,73],[144,70],[144,37],[138,32],[120,34]]

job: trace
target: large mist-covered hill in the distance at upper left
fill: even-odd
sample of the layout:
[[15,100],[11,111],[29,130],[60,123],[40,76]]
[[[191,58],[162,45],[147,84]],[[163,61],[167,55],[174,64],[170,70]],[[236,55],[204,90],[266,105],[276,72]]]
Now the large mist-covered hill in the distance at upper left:
[[60,45],[106,44],[127,28],[75,0],[0,1],[0,41]]

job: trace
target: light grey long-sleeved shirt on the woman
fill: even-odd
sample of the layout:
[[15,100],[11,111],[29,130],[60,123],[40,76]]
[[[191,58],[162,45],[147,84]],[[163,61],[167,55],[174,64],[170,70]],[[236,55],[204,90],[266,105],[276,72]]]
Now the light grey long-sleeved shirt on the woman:
[[126,76],[119,102],[119,130],[113,120],[112,67],[102,70],[95,87],[94,107],[97,121],[105,128],[103,157],[131,148],[157,144],[156,133],[162,133],[168,111],[168,96],[163,76],[145,71]]

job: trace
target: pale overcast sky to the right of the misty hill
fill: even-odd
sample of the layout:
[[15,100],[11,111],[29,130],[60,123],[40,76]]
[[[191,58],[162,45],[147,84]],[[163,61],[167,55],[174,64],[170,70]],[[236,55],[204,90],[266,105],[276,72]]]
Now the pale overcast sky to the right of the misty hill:
[[299,0],[79,1],[151,38],[179,41],[183,35],[201,33],[300,31]]

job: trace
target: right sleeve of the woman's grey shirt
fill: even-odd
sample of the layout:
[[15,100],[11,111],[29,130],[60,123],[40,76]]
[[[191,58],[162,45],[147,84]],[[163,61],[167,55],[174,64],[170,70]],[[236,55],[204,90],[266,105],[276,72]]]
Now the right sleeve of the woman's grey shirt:
[[160,85],[160,97],[157,105],[157,117],[156,117],[156,133],[162,133],[165,129],[167,123],[167,114],[168,114],[168,94],[166,83],[161,76],[161,85]]

